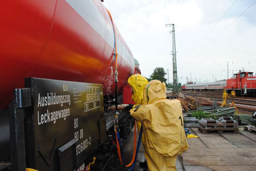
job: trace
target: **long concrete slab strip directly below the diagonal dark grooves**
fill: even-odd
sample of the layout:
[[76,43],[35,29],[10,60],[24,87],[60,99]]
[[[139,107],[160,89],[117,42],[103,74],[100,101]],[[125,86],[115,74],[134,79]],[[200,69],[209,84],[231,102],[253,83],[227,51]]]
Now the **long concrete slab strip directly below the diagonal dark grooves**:
[[207,148],[188,149],[182,156],[251,156],[256,157],[256,148]]

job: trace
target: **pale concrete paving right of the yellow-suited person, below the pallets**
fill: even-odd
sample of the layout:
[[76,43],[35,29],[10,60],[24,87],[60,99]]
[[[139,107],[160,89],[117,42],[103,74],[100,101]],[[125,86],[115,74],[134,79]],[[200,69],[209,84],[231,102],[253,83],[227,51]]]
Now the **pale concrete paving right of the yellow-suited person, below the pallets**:
[[256,170],[256,135],[202,134],[190,128],[199,138],[188,138],[190,148],[182,154],[186,171],[254,171]]

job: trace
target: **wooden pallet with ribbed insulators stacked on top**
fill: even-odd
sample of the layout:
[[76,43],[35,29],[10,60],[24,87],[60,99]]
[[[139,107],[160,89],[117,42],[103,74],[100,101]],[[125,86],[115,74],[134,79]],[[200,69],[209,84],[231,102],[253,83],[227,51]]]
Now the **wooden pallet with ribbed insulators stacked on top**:
[[198,127],[198,130],[203,134],[218,134],[218,133],[238,133],[238,128],[203,128],[201,125]]

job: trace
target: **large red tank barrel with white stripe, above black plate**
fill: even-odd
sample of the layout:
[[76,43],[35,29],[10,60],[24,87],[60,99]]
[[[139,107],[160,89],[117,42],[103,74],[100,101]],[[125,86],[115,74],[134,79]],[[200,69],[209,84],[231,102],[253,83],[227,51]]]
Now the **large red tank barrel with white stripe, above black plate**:
[[[114,32],[102,2],[8,0],[0,8],[1,109],[25,77],[98,83],[105,95],[114,93]],[[120,92],[136,69],[115,30]]]

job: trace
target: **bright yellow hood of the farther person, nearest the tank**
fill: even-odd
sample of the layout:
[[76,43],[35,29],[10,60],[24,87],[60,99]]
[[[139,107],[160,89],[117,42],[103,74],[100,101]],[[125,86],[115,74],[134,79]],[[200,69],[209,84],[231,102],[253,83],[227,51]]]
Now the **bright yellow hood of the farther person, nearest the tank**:
[[132,100],[136,104],[141,104],[143,99],[144,87],[148,84],[147,78],[141,76],[140,74],[134,74],[128,78],[128,84],[132,86]]

